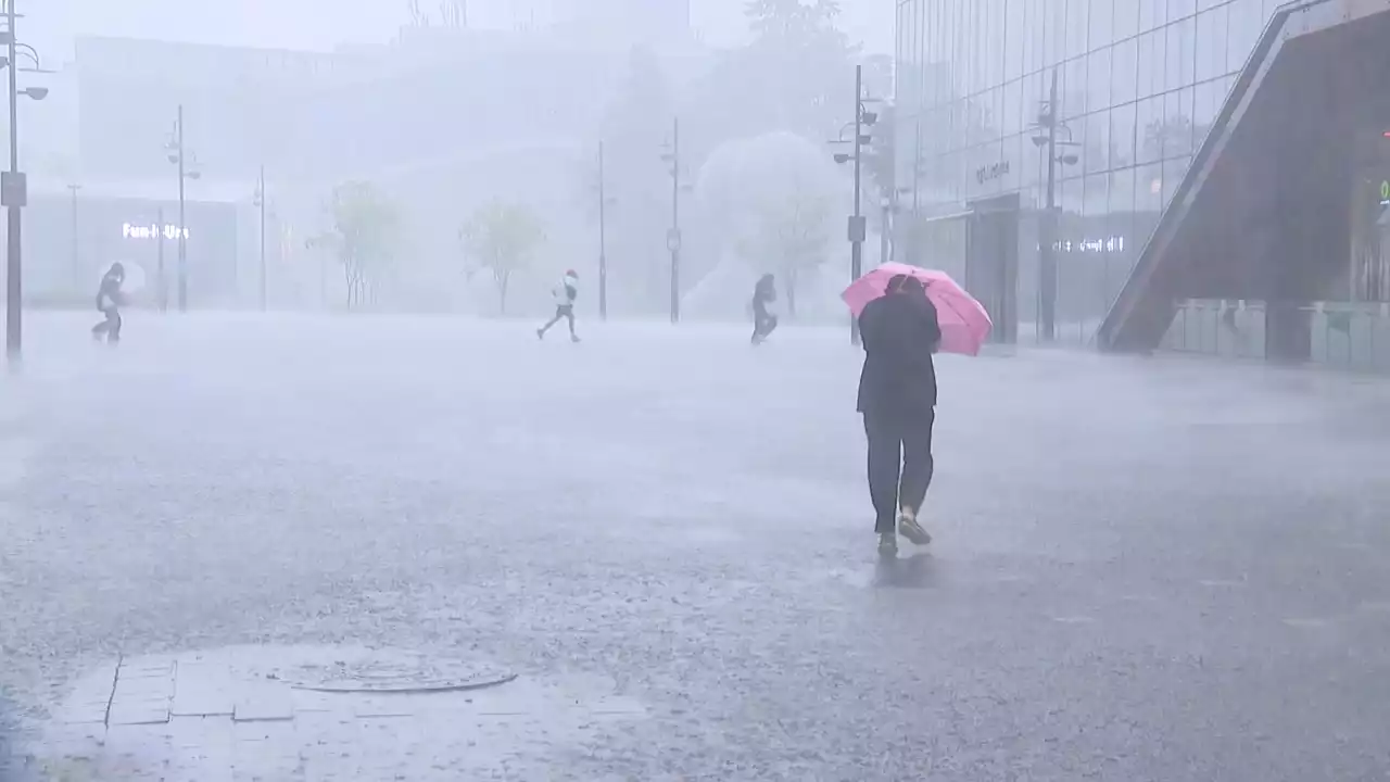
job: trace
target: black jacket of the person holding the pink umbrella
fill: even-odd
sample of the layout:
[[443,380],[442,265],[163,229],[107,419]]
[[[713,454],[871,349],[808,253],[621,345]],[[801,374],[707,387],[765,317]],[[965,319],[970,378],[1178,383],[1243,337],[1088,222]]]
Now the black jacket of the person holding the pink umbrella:
[[865,369],[859,412],[913,413],[937,404],[931,353],[941,342],[937,308],[920,292],[890,294],[859,313]]

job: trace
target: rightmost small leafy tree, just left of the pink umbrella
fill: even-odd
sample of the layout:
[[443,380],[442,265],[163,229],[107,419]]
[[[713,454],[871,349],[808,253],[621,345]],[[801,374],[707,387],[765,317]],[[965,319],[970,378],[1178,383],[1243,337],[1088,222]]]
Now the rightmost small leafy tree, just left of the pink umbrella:
[[796,317],[796,289],[803,273],[826,262],[833,200],[815,189],[798,186],[785,199],[764,200],[753,217],[742,253],[751,262],[774,269],[787,292],[787,314]]

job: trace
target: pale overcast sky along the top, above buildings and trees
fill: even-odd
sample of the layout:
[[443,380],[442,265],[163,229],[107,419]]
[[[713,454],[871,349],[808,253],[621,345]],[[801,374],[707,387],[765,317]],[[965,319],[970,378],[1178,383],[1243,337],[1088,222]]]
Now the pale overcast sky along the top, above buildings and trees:
[[[49,60],[67,58],[74,35],[327,50],[342,42],[388,40],[407,18],[406,0],[17,1],[26,14],[21,39],[39,46]],[[471,0],[471,14],[477,26],[491,26],[510,15],[513,4],[527,1],[552,0]],[[436,0],[420,4],[438,7]],[[709,43],[734,43],[745,33],[742,7],[744,0],[691,0],[692,24]],[[853,39],[870,51],[891,51],[894,0],[851,0],[844,8],[842,26]]]

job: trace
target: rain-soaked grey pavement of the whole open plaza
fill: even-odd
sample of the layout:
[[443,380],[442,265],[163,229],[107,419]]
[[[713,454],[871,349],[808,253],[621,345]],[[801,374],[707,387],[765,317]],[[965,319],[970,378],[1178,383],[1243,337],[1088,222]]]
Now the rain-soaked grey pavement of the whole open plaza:
[[947,358],[880,562],[838,330],[126,331],[0,384],[4,782],[1390,774],[1384,380]]

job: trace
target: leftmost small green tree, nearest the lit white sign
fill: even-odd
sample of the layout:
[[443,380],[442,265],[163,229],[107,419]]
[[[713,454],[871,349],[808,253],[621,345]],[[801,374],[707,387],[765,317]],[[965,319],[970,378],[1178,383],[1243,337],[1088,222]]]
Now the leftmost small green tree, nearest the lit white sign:
[[349,181],[334,188],[328,220],[331,228],[307,245],[334,253],[343,269],[348,309],[353,309],[366,303],[373,278],[379,278],[391,264],[400,213],[374,184]]

